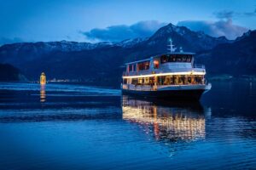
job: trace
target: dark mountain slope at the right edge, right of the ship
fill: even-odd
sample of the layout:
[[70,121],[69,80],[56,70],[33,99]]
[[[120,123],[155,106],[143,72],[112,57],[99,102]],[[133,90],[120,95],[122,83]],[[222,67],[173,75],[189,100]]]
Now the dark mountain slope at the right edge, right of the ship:
[[256,31],[247,31],[233,43],[218,44],[197,60],[207,66],[210,74],[255,75]]

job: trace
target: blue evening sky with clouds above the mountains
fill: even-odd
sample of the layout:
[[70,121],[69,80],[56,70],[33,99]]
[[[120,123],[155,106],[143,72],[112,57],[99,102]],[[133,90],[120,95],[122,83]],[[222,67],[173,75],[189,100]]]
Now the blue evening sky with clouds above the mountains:
[[235,39],[256,29],[256,0],[0,0],[0,44],[119,42],[169,23]]

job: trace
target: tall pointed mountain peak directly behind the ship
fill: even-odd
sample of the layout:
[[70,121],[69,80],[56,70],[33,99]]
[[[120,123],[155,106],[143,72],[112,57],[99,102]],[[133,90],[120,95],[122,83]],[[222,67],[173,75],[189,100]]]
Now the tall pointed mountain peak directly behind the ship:
[[172,37],[177,49],[182,47],[183,51],[195,53],[207,51],[221,43],[232,42],[225,37],[210,37],[201,31],[190,31],[184,26],[169,24],[161,27],[152,37],[133,45],[132,53],[124,61],[129,62],[136,59],[144,59],[154,54],[166,53],[170,37]]

